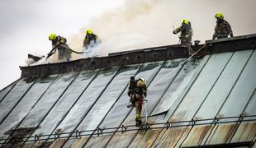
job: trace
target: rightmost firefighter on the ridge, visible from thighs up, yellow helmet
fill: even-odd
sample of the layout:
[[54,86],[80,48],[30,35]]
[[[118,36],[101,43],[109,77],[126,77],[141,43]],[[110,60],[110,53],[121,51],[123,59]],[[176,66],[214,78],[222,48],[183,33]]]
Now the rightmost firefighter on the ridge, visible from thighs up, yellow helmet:
[[227,38],[229,35],[230,37],[233,37],[233,31],[231,29],[230,23],[224,20],[223,14],[217,13],[215,17],[217,21],[214,35],[212,35],[212,39]]

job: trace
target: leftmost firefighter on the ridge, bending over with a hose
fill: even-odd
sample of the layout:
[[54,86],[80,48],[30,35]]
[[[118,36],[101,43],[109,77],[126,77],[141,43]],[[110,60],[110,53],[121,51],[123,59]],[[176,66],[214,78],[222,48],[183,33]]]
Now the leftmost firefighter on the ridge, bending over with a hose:
[[[49,35],[49,40],[51,40],[52,43],[52,47],[54,49],[54,51],[50,51],[50,53],[48,54],[47,57],[50,57],[50,55],[52,55],[53,53],[56,52],[56,49],[58,49],[58,59],[66,59],[67,61],[69,61],[69,59],[71,58],[71,51],[69,51],[68,49],[64,48],[63,46],[66,46],[67,48],[69,48],[69,45],[66,44],[67,43],[67,39],[65,39],[62,36],[57,36],[55,34],[50,34]],[[59,46],[59,45],[63,45],[63,46]]]

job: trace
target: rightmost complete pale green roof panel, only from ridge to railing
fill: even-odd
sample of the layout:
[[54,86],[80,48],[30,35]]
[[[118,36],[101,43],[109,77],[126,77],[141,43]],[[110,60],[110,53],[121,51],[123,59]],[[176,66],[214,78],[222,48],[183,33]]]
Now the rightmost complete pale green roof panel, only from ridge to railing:
[[251,50],[234,53],[219,80],[216,81],[215,86],[207,96],[206,101],[201,104],[195,118],[214,118],[216,116],[251,54]]

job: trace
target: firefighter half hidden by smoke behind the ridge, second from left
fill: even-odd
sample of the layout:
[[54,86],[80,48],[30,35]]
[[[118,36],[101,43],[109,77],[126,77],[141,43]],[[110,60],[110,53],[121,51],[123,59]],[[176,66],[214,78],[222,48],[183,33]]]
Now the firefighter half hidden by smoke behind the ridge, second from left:
[[93,47],[99,42],[97,35],[92,33],[92,30],[86,30],[85,37],[83,39],[83,48]]

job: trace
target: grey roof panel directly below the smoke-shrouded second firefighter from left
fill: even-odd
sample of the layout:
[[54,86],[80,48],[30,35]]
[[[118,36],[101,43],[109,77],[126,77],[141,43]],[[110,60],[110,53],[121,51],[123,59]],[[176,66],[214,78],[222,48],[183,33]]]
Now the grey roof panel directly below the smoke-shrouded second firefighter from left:
[[40,135],[54,132],[55,128],[63,120],[65,115],[69,113],[69,109],[71,109],[73,104],[79,99],[79,95],[88,87],[97,72],[98,71],[79,72],[75,81],[73,81],[68,90],[64,92],[64,95],[62,95],[55,107],[48,113],[44,121],[40,123],[40,128],[34,132],[33,136],[35,136],[35,134]]

